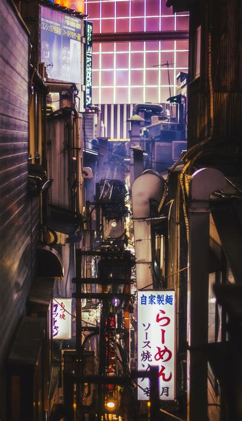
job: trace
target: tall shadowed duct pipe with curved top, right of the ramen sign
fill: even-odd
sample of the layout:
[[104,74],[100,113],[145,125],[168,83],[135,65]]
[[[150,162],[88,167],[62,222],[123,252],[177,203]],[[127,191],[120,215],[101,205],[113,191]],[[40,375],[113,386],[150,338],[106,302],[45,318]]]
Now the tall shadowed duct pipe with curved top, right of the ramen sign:
[[224,189],[219,170],[196,171],[189,186],[188,299],[187,299],[187,420],[207,419],[209,196]]

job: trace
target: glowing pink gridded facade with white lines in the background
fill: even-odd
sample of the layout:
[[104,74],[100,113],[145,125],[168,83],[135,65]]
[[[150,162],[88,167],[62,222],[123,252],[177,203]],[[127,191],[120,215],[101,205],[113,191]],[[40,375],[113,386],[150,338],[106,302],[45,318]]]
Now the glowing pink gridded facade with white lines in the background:
[[[165,4],[166,0],[87,0],[85,12],[94,33],[188,30],[188,13],[172,14]],[[93,103],[165,103],[176,95],[179,72],[188,72],[188,40],[94,43]]]

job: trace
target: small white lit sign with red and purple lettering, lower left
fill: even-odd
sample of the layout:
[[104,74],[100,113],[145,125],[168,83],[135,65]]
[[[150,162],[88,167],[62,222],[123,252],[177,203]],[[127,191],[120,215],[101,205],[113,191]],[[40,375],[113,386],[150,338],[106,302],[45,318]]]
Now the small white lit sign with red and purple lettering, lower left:
[[53,300],[53,339],[71,339],[71,298]]

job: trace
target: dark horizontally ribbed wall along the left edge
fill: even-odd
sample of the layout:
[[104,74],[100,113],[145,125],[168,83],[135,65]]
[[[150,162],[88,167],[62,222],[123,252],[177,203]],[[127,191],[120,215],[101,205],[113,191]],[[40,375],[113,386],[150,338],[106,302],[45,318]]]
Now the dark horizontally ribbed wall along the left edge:
[[0,363],[4,363],[34,275],[39,202],[27,194],[29,36],[7,0],[0,3],[0,16]]

